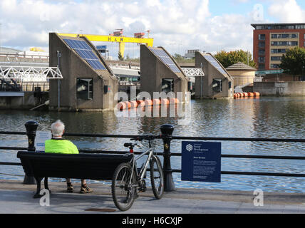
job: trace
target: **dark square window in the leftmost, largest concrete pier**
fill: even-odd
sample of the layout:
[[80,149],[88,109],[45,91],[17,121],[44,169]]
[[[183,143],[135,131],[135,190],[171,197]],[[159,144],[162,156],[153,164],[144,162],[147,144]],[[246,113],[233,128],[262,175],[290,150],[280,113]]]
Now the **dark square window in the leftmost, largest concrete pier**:
[[76,98],[83,100],[93,99],[93,78],[76,79]]

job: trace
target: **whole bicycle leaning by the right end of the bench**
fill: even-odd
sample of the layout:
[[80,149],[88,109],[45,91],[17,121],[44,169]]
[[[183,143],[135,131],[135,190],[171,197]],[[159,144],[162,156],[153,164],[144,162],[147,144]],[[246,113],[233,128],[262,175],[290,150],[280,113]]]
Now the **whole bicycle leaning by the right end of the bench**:
[[[156,199],[161,199],[164,193],[164,176],[160,158],[155,155],[153,146],[153,140],[159,138],[159,136],[143,135],[131,140],[137,140],[139,142],[148,140],[149,149],[142,152],[140,155],[135,156],[133,148],[138,143],[125,143],[124,147],[128,147],[130,152],[126,155],[132,155],[130,162],[122,163],[118,165],[113,174],[113,181],[111,185],[111,192],[113,195],[113,202],[115,206],[121,211],[130,209],[138,198],[138,192],[145,192],[147,190],[145,183],[145,174],[148,170],[148,164],[150,165],[150,182],[153,190],[153,194]],[[140,168],[137,167],[137,160],[144,155],[148,155],[145,162]]]

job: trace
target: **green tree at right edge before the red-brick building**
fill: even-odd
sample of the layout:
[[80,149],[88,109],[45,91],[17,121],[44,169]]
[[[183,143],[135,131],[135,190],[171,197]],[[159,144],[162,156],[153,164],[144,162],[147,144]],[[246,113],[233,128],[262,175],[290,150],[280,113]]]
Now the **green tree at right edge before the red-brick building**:
[[281,58],[281,65],[284,73],[290,73],[294,76],[305,73],[305,48],[292,48]]

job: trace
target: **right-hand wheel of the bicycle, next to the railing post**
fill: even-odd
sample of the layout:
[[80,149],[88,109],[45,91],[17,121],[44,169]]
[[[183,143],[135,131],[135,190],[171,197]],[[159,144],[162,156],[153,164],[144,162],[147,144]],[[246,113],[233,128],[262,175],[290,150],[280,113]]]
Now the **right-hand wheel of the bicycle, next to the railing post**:
[[150,160],[150,182],[156,199],[161,199],[164,193],[164,176],[159,157]]

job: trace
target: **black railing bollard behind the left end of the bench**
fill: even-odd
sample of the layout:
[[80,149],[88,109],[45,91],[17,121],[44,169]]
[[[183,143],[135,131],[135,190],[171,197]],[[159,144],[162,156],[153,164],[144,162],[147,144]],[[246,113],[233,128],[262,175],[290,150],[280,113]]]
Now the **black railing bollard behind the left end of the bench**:
[[[28,121],[25,124],[26,126],[26,135],[28,136],[28,151],[35,151],[35,137],[36,137],[36,130],[38,128],[38,123],[36,121]],[[36,185],[36,180],[34,177],[29,177],[25,175],[24,177],[24,185]]]

